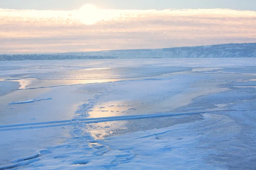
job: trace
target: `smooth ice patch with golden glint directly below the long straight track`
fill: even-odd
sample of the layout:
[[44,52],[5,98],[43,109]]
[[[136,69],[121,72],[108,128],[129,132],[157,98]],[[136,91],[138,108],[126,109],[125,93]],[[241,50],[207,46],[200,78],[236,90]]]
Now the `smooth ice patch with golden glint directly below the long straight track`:
[[163,127],[195,122],[199,120],[202,120],[200,114],[100,122],[88,124],[84,131],[88,131],[95,139],[105,139],[110,136],[122,135],[124,133],[159,129]]

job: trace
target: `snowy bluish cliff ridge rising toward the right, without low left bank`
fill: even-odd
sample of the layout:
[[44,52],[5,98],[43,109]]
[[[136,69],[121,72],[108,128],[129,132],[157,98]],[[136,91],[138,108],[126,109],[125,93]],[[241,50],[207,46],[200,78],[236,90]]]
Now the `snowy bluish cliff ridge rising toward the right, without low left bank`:
[[219,58],[219,57],[256,57],[256,43],[221,44],[196,47],[113,50],[73,55],[118,57],[118,58]]

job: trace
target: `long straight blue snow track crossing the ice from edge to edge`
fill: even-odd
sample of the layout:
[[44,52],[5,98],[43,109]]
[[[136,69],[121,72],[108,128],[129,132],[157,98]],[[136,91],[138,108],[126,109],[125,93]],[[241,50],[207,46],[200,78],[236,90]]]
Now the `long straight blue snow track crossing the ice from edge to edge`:
[[[86,105],[84,105],[86,106]],[[119,120],[131,120],[131,119],[145,119],[163,116],[181,116],[181,115],[192,115],[192,114],[204,114],[204,113],[214,113],[223,111],[254,111],[256,109],[227,109],[227,110],[212,110],[212,111],[194,111],[194,112],[183,112],[183,113],[153,113],[153,114],[140,114],[140,115],[127,115],[127,116],[110,116],[110,117],[99,117],[99,118],[77,118],[71,120],[63,121],[52,121],[52,122],[38,122],[38,123],[27,123],[27,124],[16,124],[16,125],[1,125],[0,131],[5,130],[18,130],[18,129],[32,129],[32,128],[42,128],[42,127],[52,127],[52,126],[65,126],[72,125],[73,123],[97,123],[97,122],[112,122]],[[86,116],[81,112],[83,116]],[[82,116],[79,115],[79,116]]]

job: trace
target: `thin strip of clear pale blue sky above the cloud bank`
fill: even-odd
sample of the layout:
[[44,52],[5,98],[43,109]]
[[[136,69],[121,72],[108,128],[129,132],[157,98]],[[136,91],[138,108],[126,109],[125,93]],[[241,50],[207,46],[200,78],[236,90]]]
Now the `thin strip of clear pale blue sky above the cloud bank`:
[[0,0],[0,8],[74,10],[84,4],[110,9],[233,8],[256,11],[256,0]]

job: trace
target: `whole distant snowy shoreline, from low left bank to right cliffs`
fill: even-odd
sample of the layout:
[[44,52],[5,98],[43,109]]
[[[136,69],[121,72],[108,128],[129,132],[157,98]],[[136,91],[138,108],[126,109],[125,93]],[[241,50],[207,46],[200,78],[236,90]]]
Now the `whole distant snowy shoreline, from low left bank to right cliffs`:
[[70,52],[58,54],[0,55],[0,61],[49,59],[115,59],[115,58],[233,58],[256,57],[256,43],[220,44],[160,49]]

